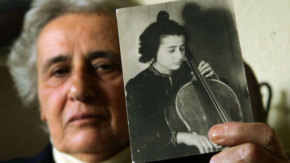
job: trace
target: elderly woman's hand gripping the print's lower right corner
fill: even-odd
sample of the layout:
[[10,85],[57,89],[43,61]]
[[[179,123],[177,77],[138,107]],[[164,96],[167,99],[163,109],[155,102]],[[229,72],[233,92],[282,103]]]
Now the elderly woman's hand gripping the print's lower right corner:
[[290,163],[279,136],[264,123],[217,124],[211,127],[208,137],[218,145],[232,146],[214,155],[210,163]]

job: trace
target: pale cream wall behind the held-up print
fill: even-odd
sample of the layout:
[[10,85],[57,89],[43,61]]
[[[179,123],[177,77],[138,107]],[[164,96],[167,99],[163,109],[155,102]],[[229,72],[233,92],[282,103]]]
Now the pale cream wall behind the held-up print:
[[[143,4],[172,0],[139,0]],[[290,152],[290,1],[234,0],[244,60],[258,82],[272,87],[268,123],[276,129]],[[266,98],[265,90],[262,90]],[[288,141],[287,141],[288,140]]]

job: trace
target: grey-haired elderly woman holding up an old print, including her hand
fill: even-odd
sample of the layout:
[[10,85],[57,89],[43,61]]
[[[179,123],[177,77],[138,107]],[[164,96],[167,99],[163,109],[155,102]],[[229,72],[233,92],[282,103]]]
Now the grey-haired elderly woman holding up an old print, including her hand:
[[[38,102],[51,144],[18,162],[131,161],[115,17],[116,8],[130,5],[136,3],[32,3],[8,65],[25,104]],[[233,146],[212,162],[289,162],[276,133],[265,124],[219,124],[209,137]]]

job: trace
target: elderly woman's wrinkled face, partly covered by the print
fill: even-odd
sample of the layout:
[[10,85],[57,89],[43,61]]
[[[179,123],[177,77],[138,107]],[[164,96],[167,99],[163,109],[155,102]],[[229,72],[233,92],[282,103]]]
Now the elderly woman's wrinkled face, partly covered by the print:
[[40,33],[37,55],[41,118],[57,149],[109,156],[129,145],[116,18],[56,18]]

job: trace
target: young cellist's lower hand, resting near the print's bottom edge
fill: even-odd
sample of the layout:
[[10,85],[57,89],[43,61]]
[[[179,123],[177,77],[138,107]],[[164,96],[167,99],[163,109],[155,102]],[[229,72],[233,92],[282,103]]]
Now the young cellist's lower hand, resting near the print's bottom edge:
[[195,145],[200,153],[216,151],[216,145],[214,145],[207,137],[202,135],[179,132],[176,135],[176,140],[178,144],[184,143],[188,146]]

